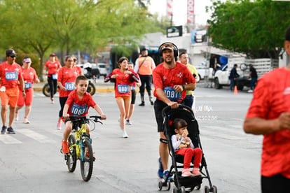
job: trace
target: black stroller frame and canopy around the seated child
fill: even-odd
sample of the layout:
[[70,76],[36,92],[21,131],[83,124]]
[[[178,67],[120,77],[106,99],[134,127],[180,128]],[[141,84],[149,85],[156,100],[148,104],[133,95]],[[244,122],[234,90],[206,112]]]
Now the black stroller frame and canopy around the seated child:
[[[178,171],[178,169],[183,169],[183,163],[184,163],[184,156],[182,155],[176,155],[174,152],[174,149],[172,147],[172,141],[171,137],[175,134],[174,128],[172,127],[172,121],[175,118],[182,118],[186,120],[188,126],[188,137],[191,138],[191,141],[195,148],[202,149],[201,143],[200,143],[200,131],[198,129],[198,122],[195,120],[193,111],[191,108],[188,108],[187,106],[179,105],[179,108],[172,109],[170,106],[167,106],[163,109],[162,112],[163,115],[163,128],[164,128],[164,134],[169,142],[169,150],[170,150],[170,156],[172,157],[172,166],[170,167],[170,174],[174,175],[173,182],[174,182],[174,189],[173,192],[191,192],[195,189],[200,190],[202,179],[207,178],[209,180],[209,187],[205,186],[205,193],[209,192],[217,192],[217,188],[215,185],[212,185],[212,182],[209,178],[209,172],[207,171],[207,163],[205,162],[204,154],[202,153],[202,162],[200,166],[200,173],[202,173],[202,176],[189,176],[189,177],[182,177],[181,171]],[[178,163],[182,163],[182,165],[177,165]],[[193,168],[193,165],[191,164],[191,168]],[[202,171],[202,169],[205,168],[205,173]],[[167,176],[167,179],[165,179],[165,182],[163,183],[162,180],[158,183],[158,189],[162,190],[163,187],[167,187],[167,190],[170,190],[170,181],[168,180],[170,175]],[[186,190],[187,189],[187,190]],[[190,189],[190,190],[189,190]]]

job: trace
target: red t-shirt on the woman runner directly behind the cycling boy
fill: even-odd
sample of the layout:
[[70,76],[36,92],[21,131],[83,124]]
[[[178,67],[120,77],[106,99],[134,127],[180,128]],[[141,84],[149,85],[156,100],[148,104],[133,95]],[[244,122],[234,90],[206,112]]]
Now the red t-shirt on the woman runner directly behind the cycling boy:
[[69,96],[69,93],[76,89],[74,87],[76,77],[78,77],[78,70],[74,67],[68,69],[66,66],[63,66],[60,71],[58,71],[57,82],[62,83],[62,86],[67,89],[67,91],[60,89],[60,97]]

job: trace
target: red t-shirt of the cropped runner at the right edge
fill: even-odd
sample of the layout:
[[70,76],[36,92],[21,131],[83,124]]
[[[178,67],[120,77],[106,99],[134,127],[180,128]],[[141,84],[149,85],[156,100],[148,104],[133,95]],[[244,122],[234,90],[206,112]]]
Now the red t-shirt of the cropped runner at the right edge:
[[[273,120],[290,112],[290,71],[275,69],[258,80],[246,117]],[[261,175],[280,173],[290,178],[290,130],[283,129],[263,138]]]

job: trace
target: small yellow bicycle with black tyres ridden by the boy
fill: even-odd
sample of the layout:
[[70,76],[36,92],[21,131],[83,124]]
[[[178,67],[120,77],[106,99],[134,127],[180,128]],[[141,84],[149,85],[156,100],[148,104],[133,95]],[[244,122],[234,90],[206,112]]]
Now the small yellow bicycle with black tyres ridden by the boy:
[[[85,123],[94,121],[102,124],[99,121],[100,119],[100,116],[69,116],[69,120],[74,124],[72,131],[74,131],[75,135],[69,135],[69,154],[64,155],[64,159],[67,160],[67,168],[70,172],[74,172],[76,169],[76,160],[80,160],[81,176],[85,182],[90,180],[92,176],[93,162],[95,161],[90,135],[85,133]],[[62,150],[60,151],[62,152]]]

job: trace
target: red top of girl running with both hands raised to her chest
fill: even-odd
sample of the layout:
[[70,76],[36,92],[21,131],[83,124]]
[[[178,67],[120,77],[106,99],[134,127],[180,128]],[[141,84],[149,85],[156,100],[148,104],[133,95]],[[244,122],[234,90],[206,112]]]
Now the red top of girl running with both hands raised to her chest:
[[[132,73],[134,71],[129,69]],[[131,75],[128,73],[123,73],[120,69],[114,69],[111,75],[118,74],[116,77],[116,84],[115,84],[115,97],[118,96],[131,96],[131,88],[130,85],[132,81],[130,80]]]

